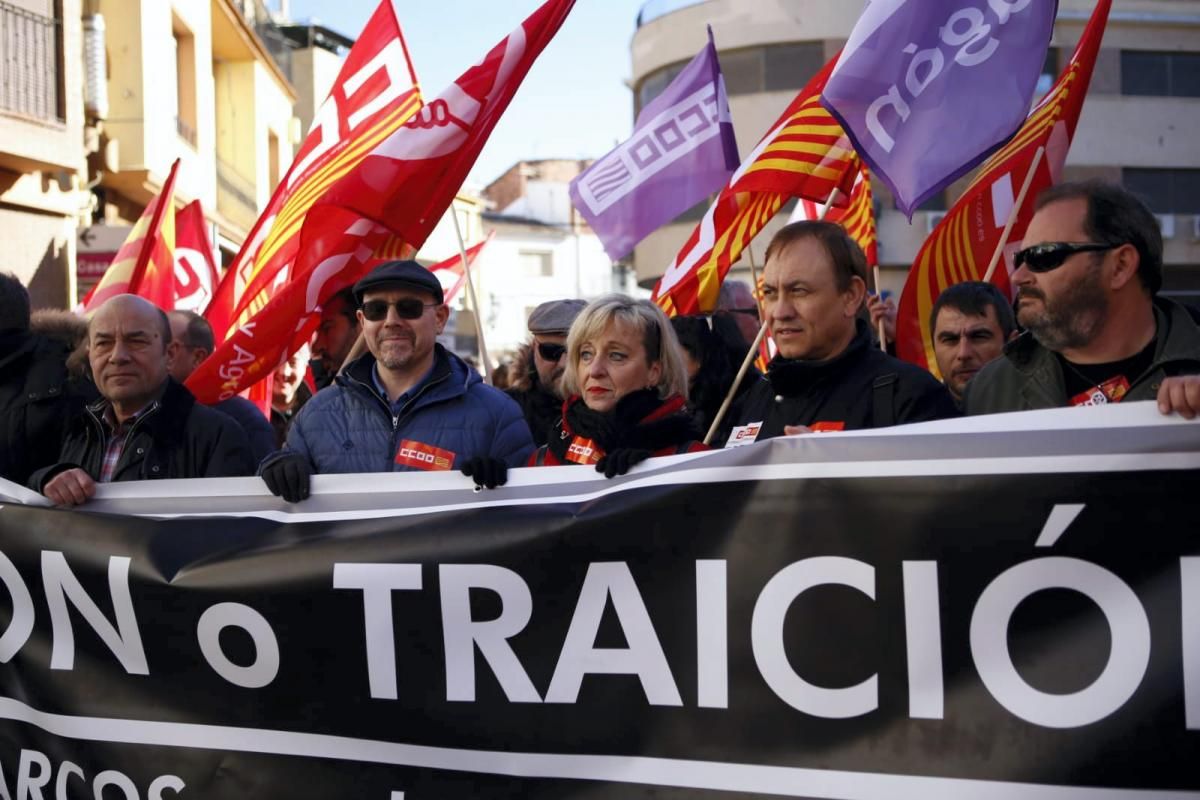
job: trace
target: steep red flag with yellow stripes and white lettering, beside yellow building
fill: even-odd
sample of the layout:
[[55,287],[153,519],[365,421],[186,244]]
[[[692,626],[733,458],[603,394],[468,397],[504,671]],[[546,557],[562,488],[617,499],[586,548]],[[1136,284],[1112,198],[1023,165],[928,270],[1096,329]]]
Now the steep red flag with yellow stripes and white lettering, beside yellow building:
[[204,315],[217,342],[294,278],[313,203],[421,106],[391,0],[382,0],[346,56],[329,97]]

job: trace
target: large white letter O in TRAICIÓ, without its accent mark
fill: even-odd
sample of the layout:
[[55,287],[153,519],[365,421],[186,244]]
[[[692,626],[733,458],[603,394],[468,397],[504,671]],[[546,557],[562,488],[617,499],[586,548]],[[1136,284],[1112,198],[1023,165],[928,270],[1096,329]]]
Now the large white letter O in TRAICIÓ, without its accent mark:
[[[1013,612],[1044,589],[1085,595],[1099,606],[1112,633],[1104,672],[1070,694],[1030,686],[1008,651]],[[984,686],[1006,709],[1046,728],[1078,728],[1109,716],[1138,690],[1150,664],[1150,620],[1133,589],[1108,570],[1080,559],[1042,558],[1007,570],[979,596],[971,616],[971,655]]]

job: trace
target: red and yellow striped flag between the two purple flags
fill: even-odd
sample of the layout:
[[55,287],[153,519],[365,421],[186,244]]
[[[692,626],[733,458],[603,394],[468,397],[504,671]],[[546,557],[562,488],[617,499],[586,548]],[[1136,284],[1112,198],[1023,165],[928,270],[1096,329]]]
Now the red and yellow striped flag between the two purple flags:
[[710,311],[730,267],[790,198],[824,203],[834,190],[850,193],[854,152],[821,106],[835,62],[836,56],[784,110],[659,278],[653,299],[668,315]]

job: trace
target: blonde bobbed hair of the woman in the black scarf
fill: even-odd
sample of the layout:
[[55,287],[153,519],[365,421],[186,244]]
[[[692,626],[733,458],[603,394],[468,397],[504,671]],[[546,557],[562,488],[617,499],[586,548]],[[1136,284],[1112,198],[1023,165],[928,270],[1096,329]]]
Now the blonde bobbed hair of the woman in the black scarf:
[[662,371],[656,386],[659,397],[679,395],[688,399],[688,369],[671,320],[649,300],[634,300],[623,294],[593,300],[575,318],[566,333],[566,369],[563,373],[566,393],[578,395],[582,391],[578,363],[583,343],[604,333],[613,323],[642,335],[647,362],[660,365]]

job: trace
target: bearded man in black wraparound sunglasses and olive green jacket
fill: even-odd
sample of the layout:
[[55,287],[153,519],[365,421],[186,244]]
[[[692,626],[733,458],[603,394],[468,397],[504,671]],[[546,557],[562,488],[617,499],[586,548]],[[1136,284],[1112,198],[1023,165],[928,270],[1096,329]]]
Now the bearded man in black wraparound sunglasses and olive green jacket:
[[1163,297],[1158,221],[1099,181],[1044,192],[1016,253],[1026,332],[967,386],[967,414],[1157,399],[1200,410],[1200,327]]

